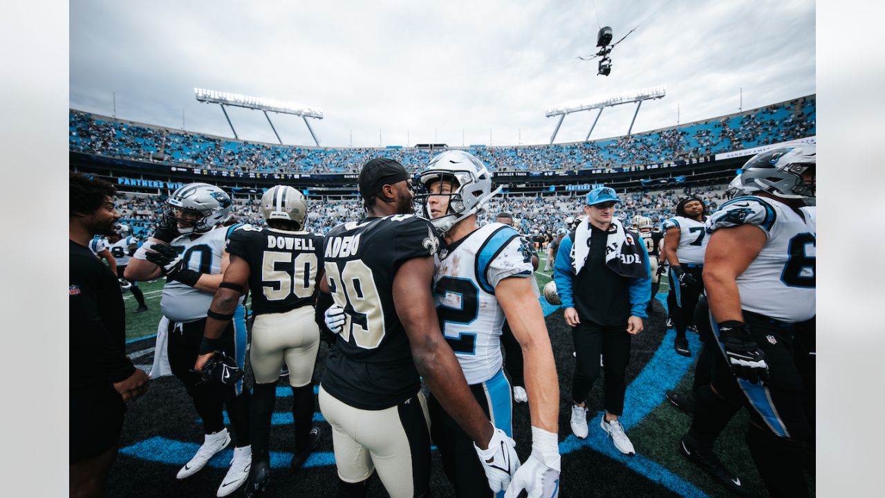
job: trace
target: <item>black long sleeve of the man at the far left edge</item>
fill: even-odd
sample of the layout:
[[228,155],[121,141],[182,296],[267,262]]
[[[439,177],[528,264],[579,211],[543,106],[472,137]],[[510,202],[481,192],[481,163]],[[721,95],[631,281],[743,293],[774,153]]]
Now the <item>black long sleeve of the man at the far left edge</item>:
[[119,346],[114,345],[111,332],[102,322],[96,289],[99,268],[92,261],[71,262],[68,293],[72,352],[81,354],[78,361],[95,364],[109,381],[125,380],[135,373],[135,366]]

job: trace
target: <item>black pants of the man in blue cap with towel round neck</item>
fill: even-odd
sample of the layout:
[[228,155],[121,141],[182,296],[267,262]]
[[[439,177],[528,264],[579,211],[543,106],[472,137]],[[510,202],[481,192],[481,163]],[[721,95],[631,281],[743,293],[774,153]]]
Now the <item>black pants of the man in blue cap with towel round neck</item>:
[[581,403],[587,399],[596,377],[599,377],[601,355],[605,370],[604,409],[612,415],[620,416],[624,411],[624,392],[627,390],[625,375],[627,362],[630,361],[630,334],[627,333],[627,320],[624,320],[623,325],[612,327],[581,319],[581,323],[572,328],[572,338],[577,356],[572,400]]

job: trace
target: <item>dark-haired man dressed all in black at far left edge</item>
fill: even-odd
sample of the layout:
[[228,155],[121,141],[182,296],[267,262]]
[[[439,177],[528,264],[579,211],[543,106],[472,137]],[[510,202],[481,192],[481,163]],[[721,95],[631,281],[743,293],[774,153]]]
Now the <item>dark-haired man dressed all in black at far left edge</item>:
[[104,496],[126,403],[148,389],[148,376],[126,356],[126,307],[119,282],[88,245],[114,232],[116,190],[104,180],[70,175],[70,494]]

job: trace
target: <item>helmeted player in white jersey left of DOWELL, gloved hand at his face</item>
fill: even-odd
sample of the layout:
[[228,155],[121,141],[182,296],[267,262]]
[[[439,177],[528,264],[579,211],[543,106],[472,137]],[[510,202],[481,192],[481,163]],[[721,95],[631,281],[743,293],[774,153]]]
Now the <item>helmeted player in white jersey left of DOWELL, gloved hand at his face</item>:
[[[194,475],[231,442],[222,415],[222,406],[226,406],[236,440],[234,459],[217,494],[227,496],[249,477],[250,392],[242,388],[242,379],[229,389],[219,389],[217,383],[204,382],[203,376],[193,368],[212,297],[230,263],[224,250],[227,238],[242,225],[222,226],[230,215],[230,196],[208,183],[182,186],[169,196],[166,205],[157,230],[129,261],[126,277],[144,281],[165,275],[160,308],[166,318],[161,324],[168,325],[158,331],[155,355],[164,354],[165,341],[172,373],[184,384],[196,413],[203,420],[204,443],[178,471],[177,478]],[[234,358],[241,369],[246,359],[244,317],[245,309],[240,304],[216,345],[219,351]]]

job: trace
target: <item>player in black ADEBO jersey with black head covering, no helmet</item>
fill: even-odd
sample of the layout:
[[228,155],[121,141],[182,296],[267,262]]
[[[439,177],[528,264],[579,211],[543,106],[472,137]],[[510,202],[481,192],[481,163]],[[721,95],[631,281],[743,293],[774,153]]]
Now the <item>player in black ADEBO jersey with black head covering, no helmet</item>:
[[489,486],[503,489],[519,456],[473,398],[440,332],[431,291],[440,241],[430,222],[412,214],[410,175],[396,160],[376,158],[362,167],[358,183],[366,218],[328,232],[319,284],[318,307],[335,301],[325,322],[338,334],[319,387],[319,408],[332,425],[338,495],[365,496],[375,470],[392,498],[430,493],[420,377],[479,445],[471,457],[484,463]]

